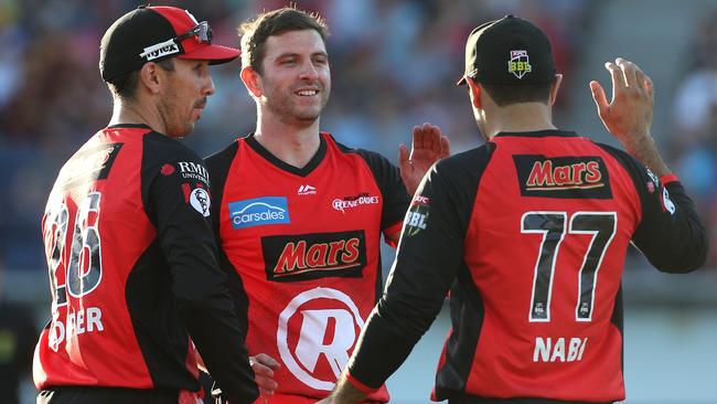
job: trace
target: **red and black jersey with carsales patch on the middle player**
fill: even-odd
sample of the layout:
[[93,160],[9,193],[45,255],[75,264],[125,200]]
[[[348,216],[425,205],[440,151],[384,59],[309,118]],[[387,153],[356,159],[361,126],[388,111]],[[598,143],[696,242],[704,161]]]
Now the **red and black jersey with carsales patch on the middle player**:
[[[281,363],[271,403],[312,403],[333,389],[382,290],[382,232],[400,231],[410,201],[385,158],[320,136],[301,169],[253,136],[206,159],[247,349]],[[372,400],[387,401],[385,387]]]

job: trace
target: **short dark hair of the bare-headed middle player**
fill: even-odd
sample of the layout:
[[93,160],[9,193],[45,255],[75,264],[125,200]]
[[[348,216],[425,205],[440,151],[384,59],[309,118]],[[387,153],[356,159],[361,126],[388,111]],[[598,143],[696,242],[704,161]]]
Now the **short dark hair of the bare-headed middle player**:
[[327,42],[329,28],[325,21],[317,13],[308,13],[295,7],[264,12],[256,19],[239,25],[242,36],[242,66],[252,66],[261,73],[261,62],[266,55],[266,41],[271,35],[286,31],[314,30]]

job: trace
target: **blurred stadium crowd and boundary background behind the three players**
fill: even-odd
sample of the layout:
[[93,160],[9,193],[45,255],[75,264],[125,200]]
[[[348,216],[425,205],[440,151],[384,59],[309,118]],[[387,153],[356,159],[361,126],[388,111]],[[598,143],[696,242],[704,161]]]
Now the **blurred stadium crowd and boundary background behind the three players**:
[[[152,1],[208,20],[217,43],[237,44],[236,25],[287,1]],[[0,386],[21,374],[21,403],[34,402],[29,359],[13,351],[49,319],[40,231],[45,198],[62,163],[105,126],[111,99],[97,70],[99,39],[131,0],[0,0]],[[322,128],[342,142],[384,153],[424,121],[439,125],[453,151],[479,145],[463,88],[464,40],[480,22],[514,13],[552,38],[566,76],[555,119],[616,143],[599,121],[589,79],[609,85],[603,63],[636,62],[656,87],[653,135],[696,199],[711,233],[707,266],[687,276],[654,270],[636,252],[625,263],[627,403],[717,403],[717,1],[715,0],[325,0],[333,94]],[[216,94],[186,142],[200,155],[248,134],[254,103],[238,64],[214,67]],[[386,267],[393,252],[384,251]],[[23,315],[23,308],[28,315]],[[11,323],[30,319],[31,336]],[[393,403],[428,402],[448,320],[442,313],[389,380]],[[4,392],[4,390],[2,390]],[[0,403],[6,403],[0,392]]]

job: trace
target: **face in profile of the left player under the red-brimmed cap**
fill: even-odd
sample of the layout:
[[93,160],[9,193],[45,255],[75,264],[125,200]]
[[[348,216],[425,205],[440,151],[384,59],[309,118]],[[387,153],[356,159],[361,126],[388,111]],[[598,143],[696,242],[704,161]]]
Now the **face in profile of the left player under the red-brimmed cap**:
[[174,70],[163,71],[162,75],[162,96],[157,108],[165,135],[188,136],[200,119],[207,97],[214,94],[208,61],[174,59]]

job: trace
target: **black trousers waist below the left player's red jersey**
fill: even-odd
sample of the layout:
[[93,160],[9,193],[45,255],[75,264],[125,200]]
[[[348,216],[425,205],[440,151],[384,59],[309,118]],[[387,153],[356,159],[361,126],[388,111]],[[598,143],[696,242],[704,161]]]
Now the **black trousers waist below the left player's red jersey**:
[[137,390],[119,387],[58,387],[43,390],[38,404],[176,404],[176,390]]

